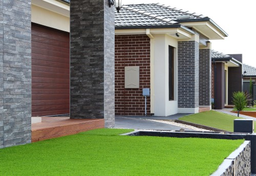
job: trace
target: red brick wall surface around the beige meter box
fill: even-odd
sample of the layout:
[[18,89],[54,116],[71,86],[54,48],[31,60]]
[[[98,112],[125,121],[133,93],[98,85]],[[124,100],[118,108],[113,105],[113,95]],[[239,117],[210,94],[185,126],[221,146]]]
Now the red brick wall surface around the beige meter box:
[[[127,66],[140,67],[139,89],[124,89],[124,67]],[[144,115],[142,88],[150,88],[150,38],[147,35],[116,35],[115,115]],[[147,115],[150,115],[150,97],[147,98]]]

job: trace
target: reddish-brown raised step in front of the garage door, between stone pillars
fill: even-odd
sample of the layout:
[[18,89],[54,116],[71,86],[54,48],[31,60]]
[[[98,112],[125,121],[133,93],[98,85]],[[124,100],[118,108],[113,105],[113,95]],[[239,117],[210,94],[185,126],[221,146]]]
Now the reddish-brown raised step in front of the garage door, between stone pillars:
[[104,119],[42,117],[41,123],[32,124],[32,142],[73,135],[96,128],[104,128]]

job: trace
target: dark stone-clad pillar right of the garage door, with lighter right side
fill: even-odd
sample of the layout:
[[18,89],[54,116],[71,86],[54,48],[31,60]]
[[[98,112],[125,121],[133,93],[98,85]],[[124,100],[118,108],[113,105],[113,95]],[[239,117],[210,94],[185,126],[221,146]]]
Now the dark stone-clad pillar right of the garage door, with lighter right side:
[[108,1],[70,4],[70,117],[115,124],[115,14]]

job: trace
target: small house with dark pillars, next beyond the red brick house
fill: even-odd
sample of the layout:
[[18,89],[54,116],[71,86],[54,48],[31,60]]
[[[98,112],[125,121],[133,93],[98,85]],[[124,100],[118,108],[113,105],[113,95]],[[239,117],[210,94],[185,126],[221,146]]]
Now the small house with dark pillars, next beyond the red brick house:
[[242,54],[211,51],[211,98],[216,109],[231,105],[233,92],[242,91]]

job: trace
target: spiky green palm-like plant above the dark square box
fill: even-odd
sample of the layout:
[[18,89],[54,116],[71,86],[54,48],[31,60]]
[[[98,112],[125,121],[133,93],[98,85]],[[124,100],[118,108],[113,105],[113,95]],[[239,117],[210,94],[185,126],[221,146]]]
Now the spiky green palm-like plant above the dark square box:
[[247,106],[247,97],[244,92],[233,92],[233,104],[234,107],[238,111],[238,117],[239,117],[239,112],[243,111],[243,109]]

